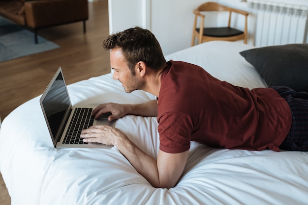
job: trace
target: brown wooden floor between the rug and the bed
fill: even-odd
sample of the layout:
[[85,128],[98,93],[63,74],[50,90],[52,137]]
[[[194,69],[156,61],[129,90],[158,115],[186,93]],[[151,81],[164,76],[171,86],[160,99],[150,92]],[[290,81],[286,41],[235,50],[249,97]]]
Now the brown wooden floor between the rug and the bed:
[[[2,121],[17,106],[42,94],[59,66],[67,84],[110,73],[109,51],[102,48],[109,34],[108,0],[89,2],[89,12],[85,34],[82,22],[38,31],[61,48],[0,63]],[[10,204],[0,175],[0,205]]]

